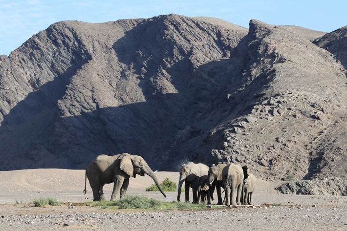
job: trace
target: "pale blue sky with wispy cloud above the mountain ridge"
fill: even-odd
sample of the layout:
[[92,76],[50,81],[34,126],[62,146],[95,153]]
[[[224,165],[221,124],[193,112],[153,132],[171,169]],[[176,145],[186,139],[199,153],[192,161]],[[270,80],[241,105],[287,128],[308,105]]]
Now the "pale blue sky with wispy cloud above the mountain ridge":
[[179,14],[248,28],[251,19],[331,32],[347,25],[346,0],[0,0],[0,55],[57,21],[117,21]]

